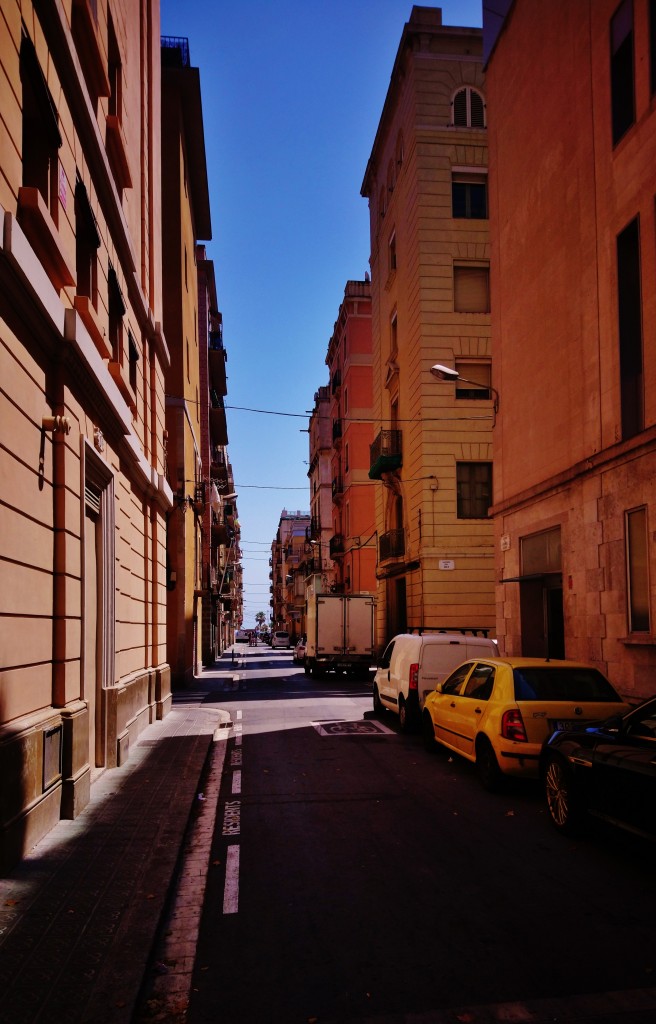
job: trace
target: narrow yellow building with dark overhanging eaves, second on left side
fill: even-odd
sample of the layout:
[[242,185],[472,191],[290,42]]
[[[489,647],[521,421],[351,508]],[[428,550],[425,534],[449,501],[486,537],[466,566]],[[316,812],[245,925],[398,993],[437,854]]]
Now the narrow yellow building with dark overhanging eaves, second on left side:
[[[204,602],[203,520],[210,495],[202,457],[200,326],[196,243],[212,238],[199,69],[188,41],[162,39],[162,200],[164,209],[164,329],[171,362],[166,373],[167,473],[173,509],[167,521],[167,647],[174,688],[192,683],[202,664]],[[205,339],[204,339],[205,341]],[[203,361],[208,358],[203,348]],[[220,369],[220,368],[219,368]],[[210,388],[218,410],[219,442],[227,443],[223,394]],[[205,585],[205,586],[204,586]],[[206,608],[205,611],[210,609]]]

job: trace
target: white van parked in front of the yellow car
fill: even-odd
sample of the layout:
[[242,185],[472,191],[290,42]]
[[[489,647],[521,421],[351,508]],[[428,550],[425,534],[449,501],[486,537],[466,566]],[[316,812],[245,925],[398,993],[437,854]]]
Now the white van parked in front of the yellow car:
[[401,633],[390,640],[374,678],[374,711],[396,712],[403,731],[419,725],[428,693],[462,662],[497,657],[496,640],[468,633]]

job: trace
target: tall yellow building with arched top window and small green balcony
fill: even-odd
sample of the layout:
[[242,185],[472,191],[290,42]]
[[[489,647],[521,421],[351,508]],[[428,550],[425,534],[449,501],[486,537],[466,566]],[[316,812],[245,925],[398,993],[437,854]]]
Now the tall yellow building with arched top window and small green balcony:
[[361,188],[380,646],[408,627],[494,629],[487,170],[482,33],[414,6]]

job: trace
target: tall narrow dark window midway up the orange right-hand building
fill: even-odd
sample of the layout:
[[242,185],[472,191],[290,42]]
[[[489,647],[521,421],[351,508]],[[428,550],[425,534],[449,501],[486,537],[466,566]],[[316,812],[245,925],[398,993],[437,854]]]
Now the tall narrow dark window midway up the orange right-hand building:
[[617,312],[622,438],[645,428],[640,222],[631,221],[617,239]]

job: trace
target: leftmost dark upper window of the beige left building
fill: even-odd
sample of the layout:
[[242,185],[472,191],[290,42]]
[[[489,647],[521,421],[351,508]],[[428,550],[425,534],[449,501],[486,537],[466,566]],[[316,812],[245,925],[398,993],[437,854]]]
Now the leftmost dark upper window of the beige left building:
[[23,85],[23,184],[38,188],[57,224],[59,119],[37,57],[34,43],[20,40]]

